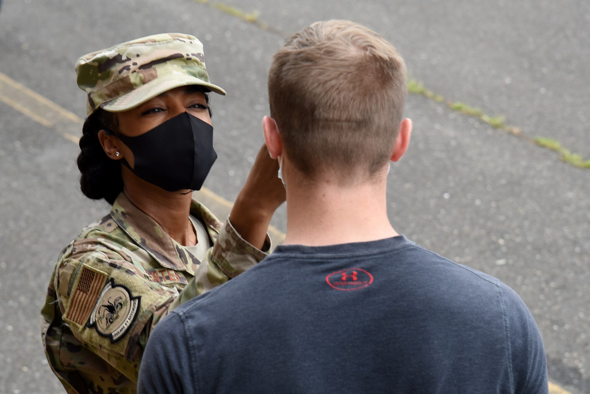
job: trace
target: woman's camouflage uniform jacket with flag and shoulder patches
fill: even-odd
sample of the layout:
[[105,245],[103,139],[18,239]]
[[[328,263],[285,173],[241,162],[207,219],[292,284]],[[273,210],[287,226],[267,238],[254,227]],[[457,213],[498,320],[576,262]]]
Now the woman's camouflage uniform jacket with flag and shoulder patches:
[[[135,393],[155,324],[266,257],[196,200],[214,243],[199,261],[121,193],[61,252],[41,310],[45,354],[68,393]],[[270,240],[263,248],[270,249]],[[173,352],[173,349],[170,349]]]

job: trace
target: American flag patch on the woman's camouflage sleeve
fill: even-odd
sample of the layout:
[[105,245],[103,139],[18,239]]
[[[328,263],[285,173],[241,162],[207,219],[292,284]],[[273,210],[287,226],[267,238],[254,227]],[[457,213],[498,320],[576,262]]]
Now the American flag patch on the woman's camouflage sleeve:
[[74,290],[70,295],[70,302],[65,311],[64,320],[69,320],[78,326],[84,326],[106,280],[107,274],[83,264],[76,284],[74,284]]

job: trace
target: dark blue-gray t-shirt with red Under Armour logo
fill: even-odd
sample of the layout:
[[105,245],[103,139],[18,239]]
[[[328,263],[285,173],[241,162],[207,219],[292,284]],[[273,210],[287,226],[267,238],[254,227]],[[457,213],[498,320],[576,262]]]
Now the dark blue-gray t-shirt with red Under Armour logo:
[[507,285],[403,236],[278,246],[176,308],[139,393],[548,393],[545,351]]

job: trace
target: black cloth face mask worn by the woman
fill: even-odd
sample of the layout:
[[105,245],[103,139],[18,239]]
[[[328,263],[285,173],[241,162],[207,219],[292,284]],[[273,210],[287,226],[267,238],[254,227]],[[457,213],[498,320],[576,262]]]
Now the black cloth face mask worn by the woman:
[[217,153],[213,149],[213,127],[188,112],[154,127],[137,137],[106,130],[131,149],[135,166],[127,166],[139,178],[169,192],[199,190]]

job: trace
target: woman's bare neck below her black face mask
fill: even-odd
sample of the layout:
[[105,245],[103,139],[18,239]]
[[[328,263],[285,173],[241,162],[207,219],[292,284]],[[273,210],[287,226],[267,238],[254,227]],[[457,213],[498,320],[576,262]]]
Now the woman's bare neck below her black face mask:
[[129,178],[123,178],[123,192],[129,201],[154,219],[176,242],[185,246],[195,245],[197,239],[189,221],[192,193],[167,192],[137,177],[133,180]]

